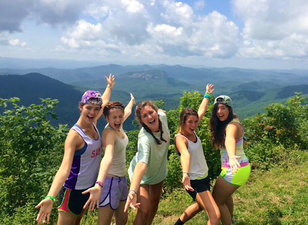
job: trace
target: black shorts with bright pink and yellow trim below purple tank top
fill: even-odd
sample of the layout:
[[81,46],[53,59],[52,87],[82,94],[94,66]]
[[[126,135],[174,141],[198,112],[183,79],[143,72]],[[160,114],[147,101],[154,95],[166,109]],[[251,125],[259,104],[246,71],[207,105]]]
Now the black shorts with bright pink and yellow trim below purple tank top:
[[81,194],[84,190],[73,190],[67,189],[62,187],[59,193],[59,204],[58,210],[66,212],[67,214],[71,215],[72,217],[78,217],[82,209],[90,197],[90,193]]

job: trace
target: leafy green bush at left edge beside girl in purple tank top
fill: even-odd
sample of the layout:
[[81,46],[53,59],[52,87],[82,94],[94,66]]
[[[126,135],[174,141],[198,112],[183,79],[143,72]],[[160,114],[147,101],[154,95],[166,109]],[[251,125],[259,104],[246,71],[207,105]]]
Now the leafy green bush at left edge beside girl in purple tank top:
[[40,105],[25,107],[15,104],[18,98],[0,99],[4,108],[0,115],[0,204],[7,217],[29,202],[39,202],[61,163],[59,148],[68,129],[49,123],[49,115],[56,119],[57,100],[41,100]]

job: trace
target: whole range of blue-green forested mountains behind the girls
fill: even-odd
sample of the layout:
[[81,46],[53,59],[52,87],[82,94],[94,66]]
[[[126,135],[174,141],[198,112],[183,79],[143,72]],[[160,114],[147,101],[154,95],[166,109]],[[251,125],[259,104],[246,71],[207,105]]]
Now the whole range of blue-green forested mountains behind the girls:
[[[271,102],[282,102],[302,92],[308,95],[308,70],[256,70],[241,68],[192,68],[180,65],[116,64],[73,69],[0,68],[0,98],[18,97],[21,104],[39,104],[39,98],[58,99],[56,123],[73,125],[78,120],[78,103],[85,90],[104,92],[109,73],[116,77],[111,101],[124,105],[131,92],[136,102],[145,99],[163,100],[165,108],[175,109],[186,91],[205,92],[207,83],[215,85],[214,96],[228,95],[234,102],[234,111],[241,118],[264,111]],[[133,129],[133,115],[124,124]],[[103,129],[106,121],[99,125]]]

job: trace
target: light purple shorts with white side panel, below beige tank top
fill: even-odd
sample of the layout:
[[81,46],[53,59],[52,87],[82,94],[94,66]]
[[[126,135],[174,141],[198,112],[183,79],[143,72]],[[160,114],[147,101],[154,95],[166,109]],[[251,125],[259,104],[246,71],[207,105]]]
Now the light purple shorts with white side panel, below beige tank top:
[[126,176],[108,177],[106,176],[101,191],[100,207],[110,204],[112,210],[119,207],[120,201],[126,201],[128,195],[128,186]]

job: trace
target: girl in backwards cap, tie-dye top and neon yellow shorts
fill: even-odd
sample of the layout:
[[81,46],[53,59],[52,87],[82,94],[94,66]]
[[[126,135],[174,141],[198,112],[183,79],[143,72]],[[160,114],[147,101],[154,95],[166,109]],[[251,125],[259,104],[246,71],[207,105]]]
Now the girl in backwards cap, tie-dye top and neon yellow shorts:
[[209,129],[212,145],[220,148],[222,167],[213,197],[220,210],[222,224],[230,225],[235,221],[232,194],[246,183],[251,168],[243,150],[244,129],[238,116],[233,113],[232,100],[228,96],[215,99]]

